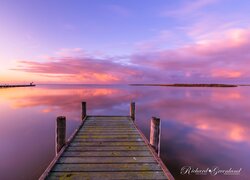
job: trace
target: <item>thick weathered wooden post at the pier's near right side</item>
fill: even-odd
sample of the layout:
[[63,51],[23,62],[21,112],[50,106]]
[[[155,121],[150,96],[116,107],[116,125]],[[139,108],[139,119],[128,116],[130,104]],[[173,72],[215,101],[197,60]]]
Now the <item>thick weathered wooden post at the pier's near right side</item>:
[[160,136],[161,136],[161,120],[152,117],[150,127],[150,145],[154,148],[158,156],[160,156]]

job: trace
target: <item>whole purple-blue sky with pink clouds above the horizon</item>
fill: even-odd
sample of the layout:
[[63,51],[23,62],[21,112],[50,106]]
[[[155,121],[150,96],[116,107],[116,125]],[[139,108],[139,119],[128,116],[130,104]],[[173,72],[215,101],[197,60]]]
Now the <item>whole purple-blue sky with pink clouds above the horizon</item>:
[[249,83],[248,0],[2,0],[0,83]]

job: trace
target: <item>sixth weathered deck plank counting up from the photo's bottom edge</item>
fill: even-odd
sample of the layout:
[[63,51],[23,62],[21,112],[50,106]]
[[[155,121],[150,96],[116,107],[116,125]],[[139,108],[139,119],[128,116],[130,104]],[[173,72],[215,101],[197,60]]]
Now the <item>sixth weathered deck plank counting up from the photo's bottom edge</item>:
[[70,146],[142,146],[144,142],[75,142],[72,141]]

